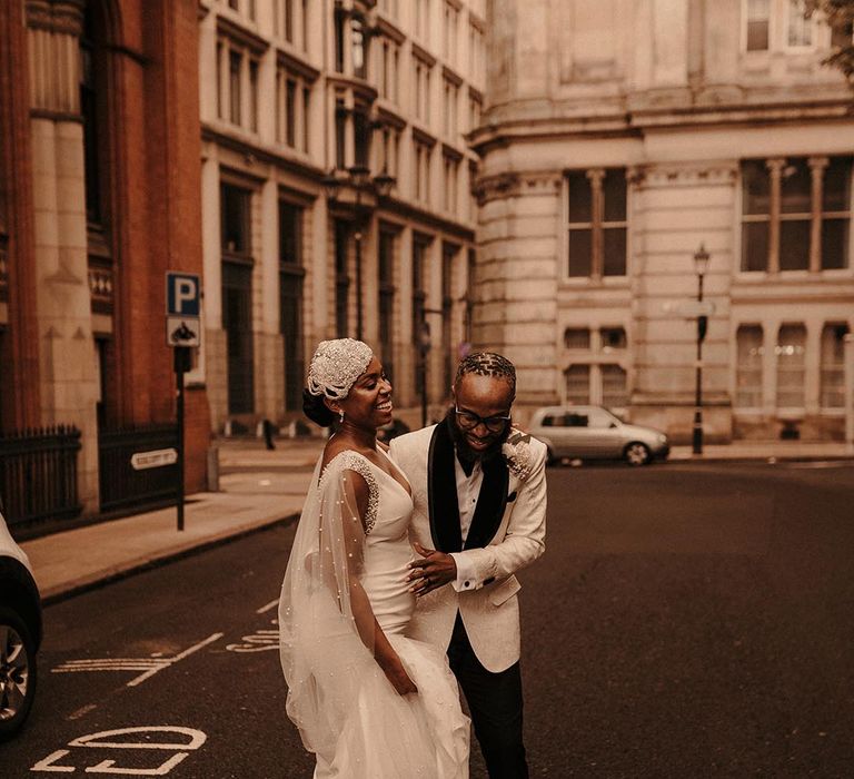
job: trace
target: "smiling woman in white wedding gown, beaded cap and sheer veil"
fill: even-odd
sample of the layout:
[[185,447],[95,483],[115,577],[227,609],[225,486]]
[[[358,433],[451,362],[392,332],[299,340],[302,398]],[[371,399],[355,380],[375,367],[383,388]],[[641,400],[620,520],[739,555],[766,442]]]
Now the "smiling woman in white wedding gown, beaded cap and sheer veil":
[[279,602],[287,712],[315,778],[465,779],[468,719],[445,655],[407,639],[411,491],[377,444],[391,385],[370,347],[324,341],[304,407],[337,417],[315,469]]

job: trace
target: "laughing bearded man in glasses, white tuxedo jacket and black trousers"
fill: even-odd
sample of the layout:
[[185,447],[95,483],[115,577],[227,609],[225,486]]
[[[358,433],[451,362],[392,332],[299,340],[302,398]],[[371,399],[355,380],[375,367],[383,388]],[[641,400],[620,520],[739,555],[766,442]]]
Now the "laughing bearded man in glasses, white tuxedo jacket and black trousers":
[[490,779],[528,776],[522,733],[519,582],[545,549],[546,447],[512,428],[516,371],[471,354],[438,425],[391,441],[413,486],[418,607],[409,635],[447,650]]

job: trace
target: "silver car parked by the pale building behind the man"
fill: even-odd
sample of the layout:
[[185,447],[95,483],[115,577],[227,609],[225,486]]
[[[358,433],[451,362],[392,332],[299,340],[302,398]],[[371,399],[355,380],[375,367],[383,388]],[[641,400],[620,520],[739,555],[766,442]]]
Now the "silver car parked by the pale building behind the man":
[[602,406],[537,408],[529,432],[548,446],[550,462],[623,458],[630,465],[646,465],[671,453],[664,433],[626,424]]

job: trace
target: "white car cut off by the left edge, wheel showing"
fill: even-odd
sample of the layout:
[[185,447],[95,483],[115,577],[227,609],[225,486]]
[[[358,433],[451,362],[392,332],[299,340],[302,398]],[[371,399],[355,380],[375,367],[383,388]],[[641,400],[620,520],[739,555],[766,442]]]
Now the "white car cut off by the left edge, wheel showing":
[[0,741],[14,734],[36,696],[41,598],[30,561],[0,513]]

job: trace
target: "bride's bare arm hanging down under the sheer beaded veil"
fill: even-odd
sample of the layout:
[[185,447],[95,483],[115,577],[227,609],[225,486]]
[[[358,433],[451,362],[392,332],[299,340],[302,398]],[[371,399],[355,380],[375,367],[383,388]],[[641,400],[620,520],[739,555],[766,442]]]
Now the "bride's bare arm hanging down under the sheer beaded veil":
[[365,517],[369,515],[370,489],[365,479],[354,471],[344,471],[341,479],[340,509],[348,561],[347,589],[356,629],[363,643],[374,652],[374,659],[395,690],[401,696],[417,692],[418,689],[406,672],[399,655],[379,627],[359,578],[364,562],[366,531],[369,530]]

